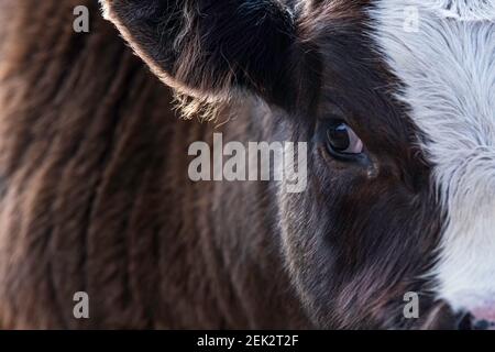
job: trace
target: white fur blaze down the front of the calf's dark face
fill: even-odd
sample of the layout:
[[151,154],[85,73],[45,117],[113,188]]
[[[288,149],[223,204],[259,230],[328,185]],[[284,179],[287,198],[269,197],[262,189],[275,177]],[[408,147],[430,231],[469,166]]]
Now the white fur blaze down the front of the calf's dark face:
[[[455,309],[495,305],[495,1],[376,0],[372,36],[405,84],[399,99],[448,222],[435,270]],[[414,10],[411,12],[411,9]],[[417,28],[405,26],[417,13]]]

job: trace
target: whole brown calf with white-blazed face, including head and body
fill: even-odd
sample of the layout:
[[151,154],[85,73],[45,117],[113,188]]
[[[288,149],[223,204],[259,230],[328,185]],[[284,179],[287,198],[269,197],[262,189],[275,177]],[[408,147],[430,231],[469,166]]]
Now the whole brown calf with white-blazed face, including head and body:
[[[168,91],[99,24],[85,53],[99,53],[107,70],[68,82],[61,74],[53,89],[66,112],[48,129],[55,141],[42,143],[37,124],[40,134],[23,141],[52,152],[2,142],[24,158],[2,167],[0,250],[14,254],[0,263],[0,321],[33,324],[19,308],[33,295],[46,302],[30,304],[34,326],[44,327],[495,321],[492,2],[101,2],[186,117],[235,117],[221,127],[228,141],[307,143],[307,187],[188,179],[187,146],[211,141],[211,125],[165,119]],[[105,91],[94,107],[99,119],[82,110],[70,118],[64,89],[91,81]],[[78,109],[96,103],[89,90],[73,101]],[[2,123],[32,136],[23,124],[30,110],[9,111],[23,128]],[[79,142],[67,144],[66,134]],[[65,308],[76,290],[94,297],[88,322]],[[418,319],[404,314],[410,293],[419,295]]]

